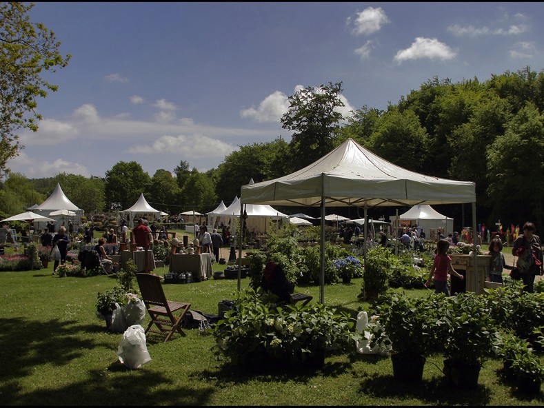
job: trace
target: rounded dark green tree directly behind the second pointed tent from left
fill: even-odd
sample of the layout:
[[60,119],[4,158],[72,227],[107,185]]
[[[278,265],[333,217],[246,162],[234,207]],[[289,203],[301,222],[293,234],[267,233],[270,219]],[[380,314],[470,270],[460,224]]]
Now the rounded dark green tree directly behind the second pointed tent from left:
[[105,205],[125,210],[138,200],[140,194],[149,190],[151,178],[135,161],[119,161],[112,170],[105,172]]

